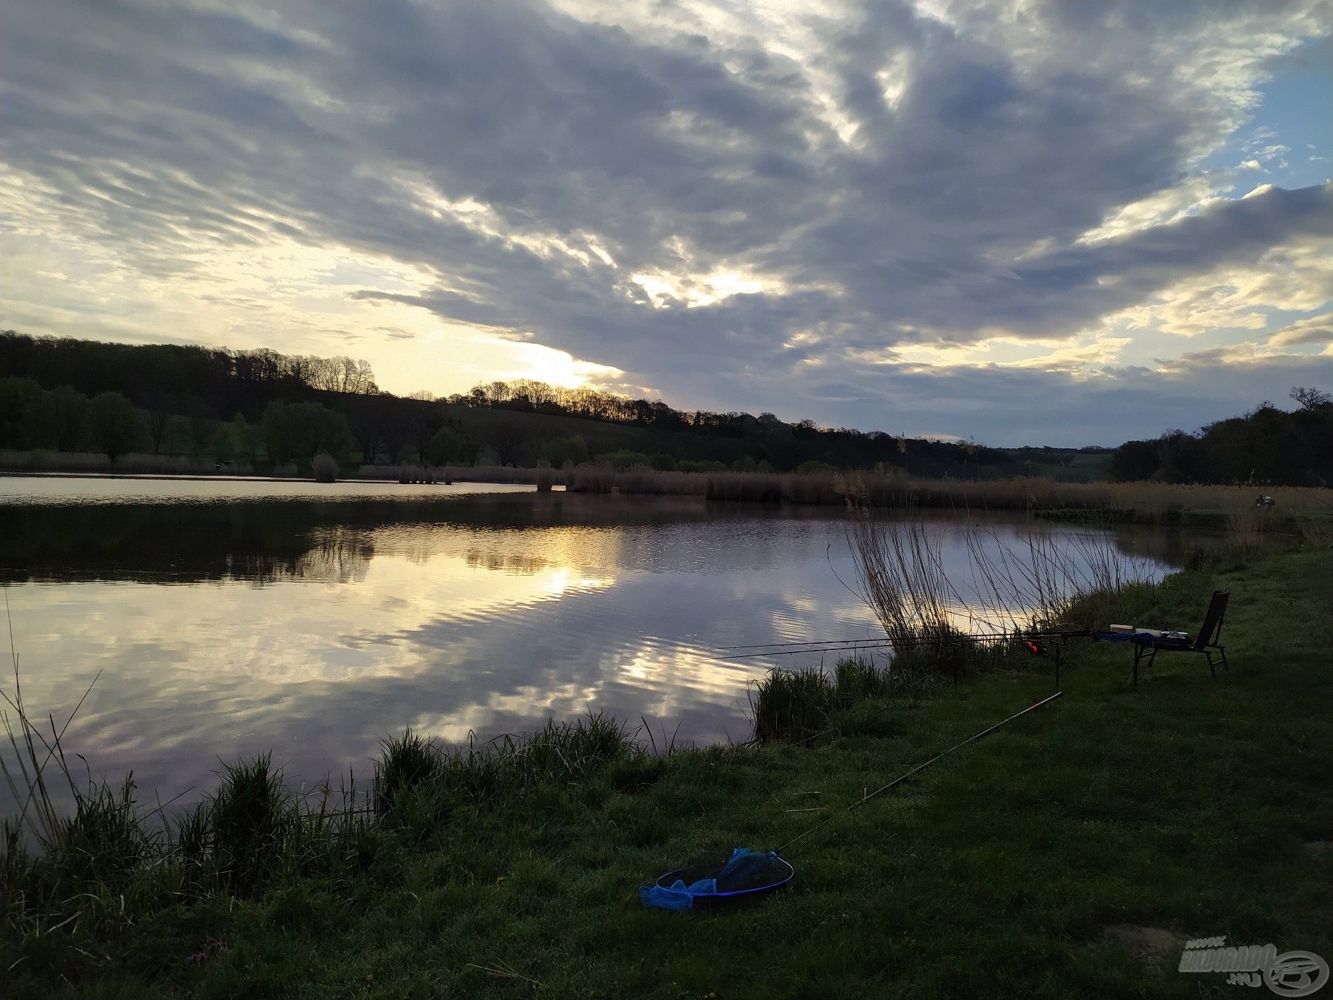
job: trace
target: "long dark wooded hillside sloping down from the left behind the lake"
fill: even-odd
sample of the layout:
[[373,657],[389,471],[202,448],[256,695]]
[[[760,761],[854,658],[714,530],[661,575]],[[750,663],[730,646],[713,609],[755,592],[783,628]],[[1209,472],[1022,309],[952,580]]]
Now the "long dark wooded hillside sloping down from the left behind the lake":
[[[121,436],[135,437],[131,451],[152,453],[263,453],[280,463],[319,440],[339,448],[344,460],[359,455],[365,463],[487,459],[560,465],[599,456],[619,461],[619,453],[631,453],[648,456],[660,468],[788,471],[821,463],[897,465],[920,475],[1022,471],[1005,452],[973,443],[821,428],[812,420],[789,424],[772,413],[677,411],[661,400],[529,379],[477,385],[444,399],[424,392],[400,397],[381,391],[363,360],[267,348],[108,344],[5,331],[0,380],[31,383],[11,384],[8,403],[0,404],[5,407],[0,427],[7,428],[0,447],[9,448],[125,447],[84,440],[72,429],[53,433],[47,409],[55,403],[39,399],[35,391],[40,391],[63,393],[60,399],[75,409],[73,395],[89,403],[105,393],[127,400],[140,412],[141,431]],[[271,411],[275,405],[279,409]],[[72,419],[71,427],[77,423]],[[123,424],[128,428],[128,419]]]

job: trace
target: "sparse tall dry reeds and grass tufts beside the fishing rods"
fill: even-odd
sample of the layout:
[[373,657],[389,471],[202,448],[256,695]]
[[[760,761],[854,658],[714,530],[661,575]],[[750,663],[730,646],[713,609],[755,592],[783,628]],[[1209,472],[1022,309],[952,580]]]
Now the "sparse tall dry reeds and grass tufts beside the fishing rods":
[[1041,651],[1029,639],[1105,625],[1110,609],[1153,577],[1150,564],[1124,555],[1100,532],[1029,532],[1009,540],[981,525],[962,528],[966,567],[950,573],[944,525],[878,520],[866,505],[850,512],[846,532],[857,571],[850,589],[884,629],[888,665],[844,660],[832,675],[772,671],[750,696],[760,741],[812,739],[853,689],[874,697],[930,679],[1012,668]]

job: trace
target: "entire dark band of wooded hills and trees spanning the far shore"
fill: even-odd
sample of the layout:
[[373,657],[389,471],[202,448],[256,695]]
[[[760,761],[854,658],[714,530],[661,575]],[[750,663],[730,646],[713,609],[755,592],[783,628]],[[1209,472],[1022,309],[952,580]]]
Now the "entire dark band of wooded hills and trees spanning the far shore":
[[112,344],[0,332],[0,449],[185,455],[252,467],[316,451],[364,464],[476,463],[625,469],[900,468],[917,476],[1328,485],[1333,404],[1293,389],[1193,433],[1116,449],[990,448],[884,431],[788,423],[773,413],[682,411],[661,400],[533,380],[396,396],[365,361],[179,344]]

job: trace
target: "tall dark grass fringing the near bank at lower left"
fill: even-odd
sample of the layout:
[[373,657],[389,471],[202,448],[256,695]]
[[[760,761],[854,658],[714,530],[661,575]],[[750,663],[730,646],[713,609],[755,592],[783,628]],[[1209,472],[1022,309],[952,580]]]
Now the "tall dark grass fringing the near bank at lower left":
[[[381,743],[369,808],[353,781],[299,797],[263,755],[224,764],[211,795],[168,816],[141,807],[132,780],[80,788],[60,747],[64,729],[52,723],[45,736],[23,707],[21,687],[4,697],[17,763],[0,756],[0,765],[19,813],[0,824],[0,927],[31,939],[72,923],[123,928],[181,901],[255,896],[281,879],[351,875],[387,835],[451,836],[459,808],[492,808],[584,779],[639,784],[661,763],[637,733],[600,713],[457,748],[409,731]],[[73,795],[72,811],[60,788]]]

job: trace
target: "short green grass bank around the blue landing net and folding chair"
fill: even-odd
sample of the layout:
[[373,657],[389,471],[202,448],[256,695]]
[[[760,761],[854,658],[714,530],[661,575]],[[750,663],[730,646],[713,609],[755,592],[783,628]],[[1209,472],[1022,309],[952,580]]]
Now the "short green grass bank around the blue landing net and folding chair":
[[[796,880],[756,905],[647,911],[637,887],[694,855],[774,847],[838,813],[1050,693],[1049,661],[926,699],[849,700],[829,709],[836,736],[813,745],[652,756],[605,724],[460,755],[423,741],[397,763],[389,748],[381,768],[400,783],[384,817],[317,851],[288,844],[284,857],[304,860],[275,864],[261,889],[200,893],[144,875],[156,891],[92,887],[101,909],[65,903],[83,916],[60,928],[19,916],[15,887],[32,876],[11,869],[32,861],[9,852],[4,992],[1230,995],[1222,976],[1180,973],[1178,948],[1137,953],[1108,928],[1333,959],[1333,852],[1320,847],[1333,840],[1333,553],[1180,573],[1120,611],[1193,629],[1214,587],[1232,589],[1229,675],[1161,656],[1133,691],[1124,647],[1081,647],[1062,699],[805,837],[786,855]],[[264,781],[248,787],[268,795]]]

